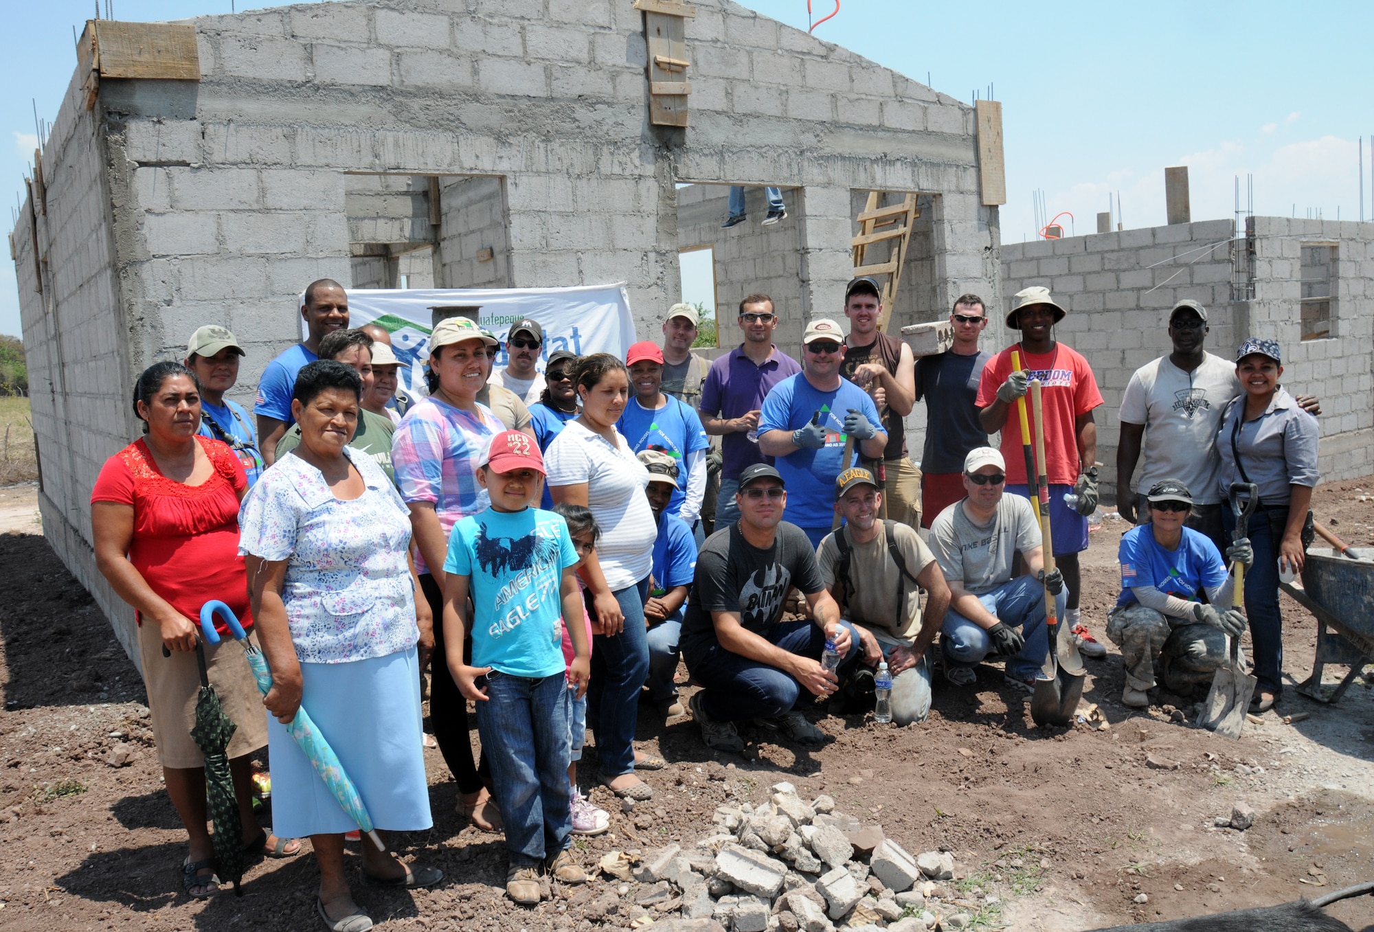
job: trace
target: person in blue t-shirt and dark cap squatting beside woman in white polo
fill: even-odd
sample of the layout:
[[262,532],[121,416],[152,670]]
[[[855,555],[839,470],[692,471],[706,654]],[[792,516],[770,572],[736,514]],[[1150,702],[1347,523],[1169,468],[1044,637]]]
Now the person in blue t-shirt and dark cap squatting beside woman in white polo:
[[697,542],[682,518],[669,513],[677,489],[677,461],[660,450],[644,450],[639,462],[649,470],[649,507],[658,522],[654,539],[654,569],[650,575],[644,620],[649,621],[649,698],[665,719],[683,715],[677,701],[677,641],[692,576],[697,572]]

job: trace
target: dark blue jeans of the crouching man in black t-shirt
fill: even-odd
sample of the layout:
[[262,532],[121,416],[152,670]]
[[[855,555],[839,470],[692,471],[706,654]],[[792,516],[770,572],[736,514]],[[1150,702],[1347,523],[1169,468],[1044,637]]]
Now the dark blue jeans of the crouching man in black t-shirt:
[[[849,653],[840,661],[841,678],[860,657],[859,634],[848,621],[841,621],[849,630]],[[769,625],[764,638],[798,657],[820,660],[826,650],[826,634],[812,621],[783,621]],[[775,719],[790,712],[802,701],[812,700],[811,693],[791,674],[776,667],[741,657],[713,643],[692,667],[692,679],[705,689],[701,702],[706,715],[717,722],[739,719]]]

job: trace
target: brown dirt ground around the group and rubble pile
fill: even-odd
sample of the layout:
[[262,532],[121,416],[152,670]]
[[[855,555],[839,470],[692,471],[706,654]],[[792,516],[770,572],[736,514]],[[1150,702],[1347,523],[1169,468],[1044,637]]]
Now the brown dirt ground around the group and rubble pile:
[[[1374,477],[1323,487],[1315,500],[1319,520],[1362,546],[1374,544],[1366,489],[1374,492]],[[0,533],[0,925],[316,928],[317,872],[308,855],[254,867],[242,898],[199,902],[181,892],[184,832],[159,785],[142,680],[40,536],[33,495],[32,487],[0,489],[0,511],[12,517]],[[1124,531],[1109,515],[1084,555],[1084,620],[1099,638],[1118,591]],[[1300,682],[1311,669],[1315,623],[1286,597],[1283,610],[1285,671]],[[1356,682],[1337,707],[1289,686],[1278,712],[1309,718],[1285,724],[1271,712],[1228,741],[1171,722],[1173,705],[1193,716],[1179,697],[1161,696],[1149,712],[1123,707],[1114,649],[1088,665],[1085,696],[1105,712],[1103,730],[1033,727],[1025,700],[991,664],[971,687],[937,678],[930,719],[908,729],[818,708],[829,741],[815,751],[746,729],[746,756],[713,755],[690,719],[642,713],[642,746],[668,760],[666,770],[646,774],[657,795],[627,815],[592,789],[613,812],[611,834],[580,840],[577,854],[591,865],[607,850],[671,840],[688,847],[710,833],[717,804],[761,801],[771,784],[789,779],[802,795],[830,793],[912,854],[952,851],[956,876],[945,892],[970,905],[973,928],[1073,931],[1178,918],[1374,878],[1369,682]],[[1330,668],[1327,682],[1344,669]],[[106,756],[118,742],[135,753],[111,767]],[[396,844],[447,878],[414,894],[357,888],[372,917],[398,929],[594,928],[584,907],[610,887],[605,881],[536,910],[504,899],[500,839],[459,830],[453,782],[436,751],[426,757],[434,829]],[[1256,810],[1254,826],[1216,828],[1213,819],[1238,801]],[[1136,902],[1140,894],[1146,902]],[[1374,929],[1371,898],[1330,911]],[[613,917],[603,928],[614,927]]]

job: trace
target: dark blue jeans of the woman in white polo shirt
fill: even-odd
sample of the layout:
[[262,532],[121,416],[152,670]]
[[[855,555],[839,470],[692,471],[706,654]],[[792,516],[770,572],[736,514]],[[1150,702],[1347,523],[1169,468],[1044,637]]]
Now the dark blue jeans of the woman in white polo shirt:
[[[587,720],[596,737],[596,759],[605,777],[635,773],[635,726],[639,690],[649,676],[649,638],[644,599],[649,577],[611,592],[625,614],[617,635],[592,635],[592,682],[587,687]],[[563,781],[567,782],[566,779]]]

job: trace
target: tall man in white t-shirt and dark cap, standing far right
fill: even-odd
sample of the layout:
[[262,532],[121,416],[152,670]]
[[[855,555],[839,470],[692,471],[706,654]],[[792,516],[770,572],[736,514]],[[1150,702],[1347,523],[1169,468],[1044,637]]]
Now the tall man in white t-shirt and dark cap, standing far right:
[[[1235,363],[1202,349],[1206,334],[1206,308],[1191,298],[1179,301],[1169,313],[1173,352],[1146,363],[1127,382],[1117,443],[1117,511],[1132,524],[1150,521],[1145,495],[1135,495],[1131,484],[1143,452],[1135,488],[1147,489],[1165,478],[1183,482],[1193,489],[1186,526],[1226,550],[1221,509],[1227,503],[1217,487],[1216,432],[1226,406],[1241,395],[1241,381]],[[1298,396],[1297,401],[1309,414],[1322,412],[1315,397]]]

